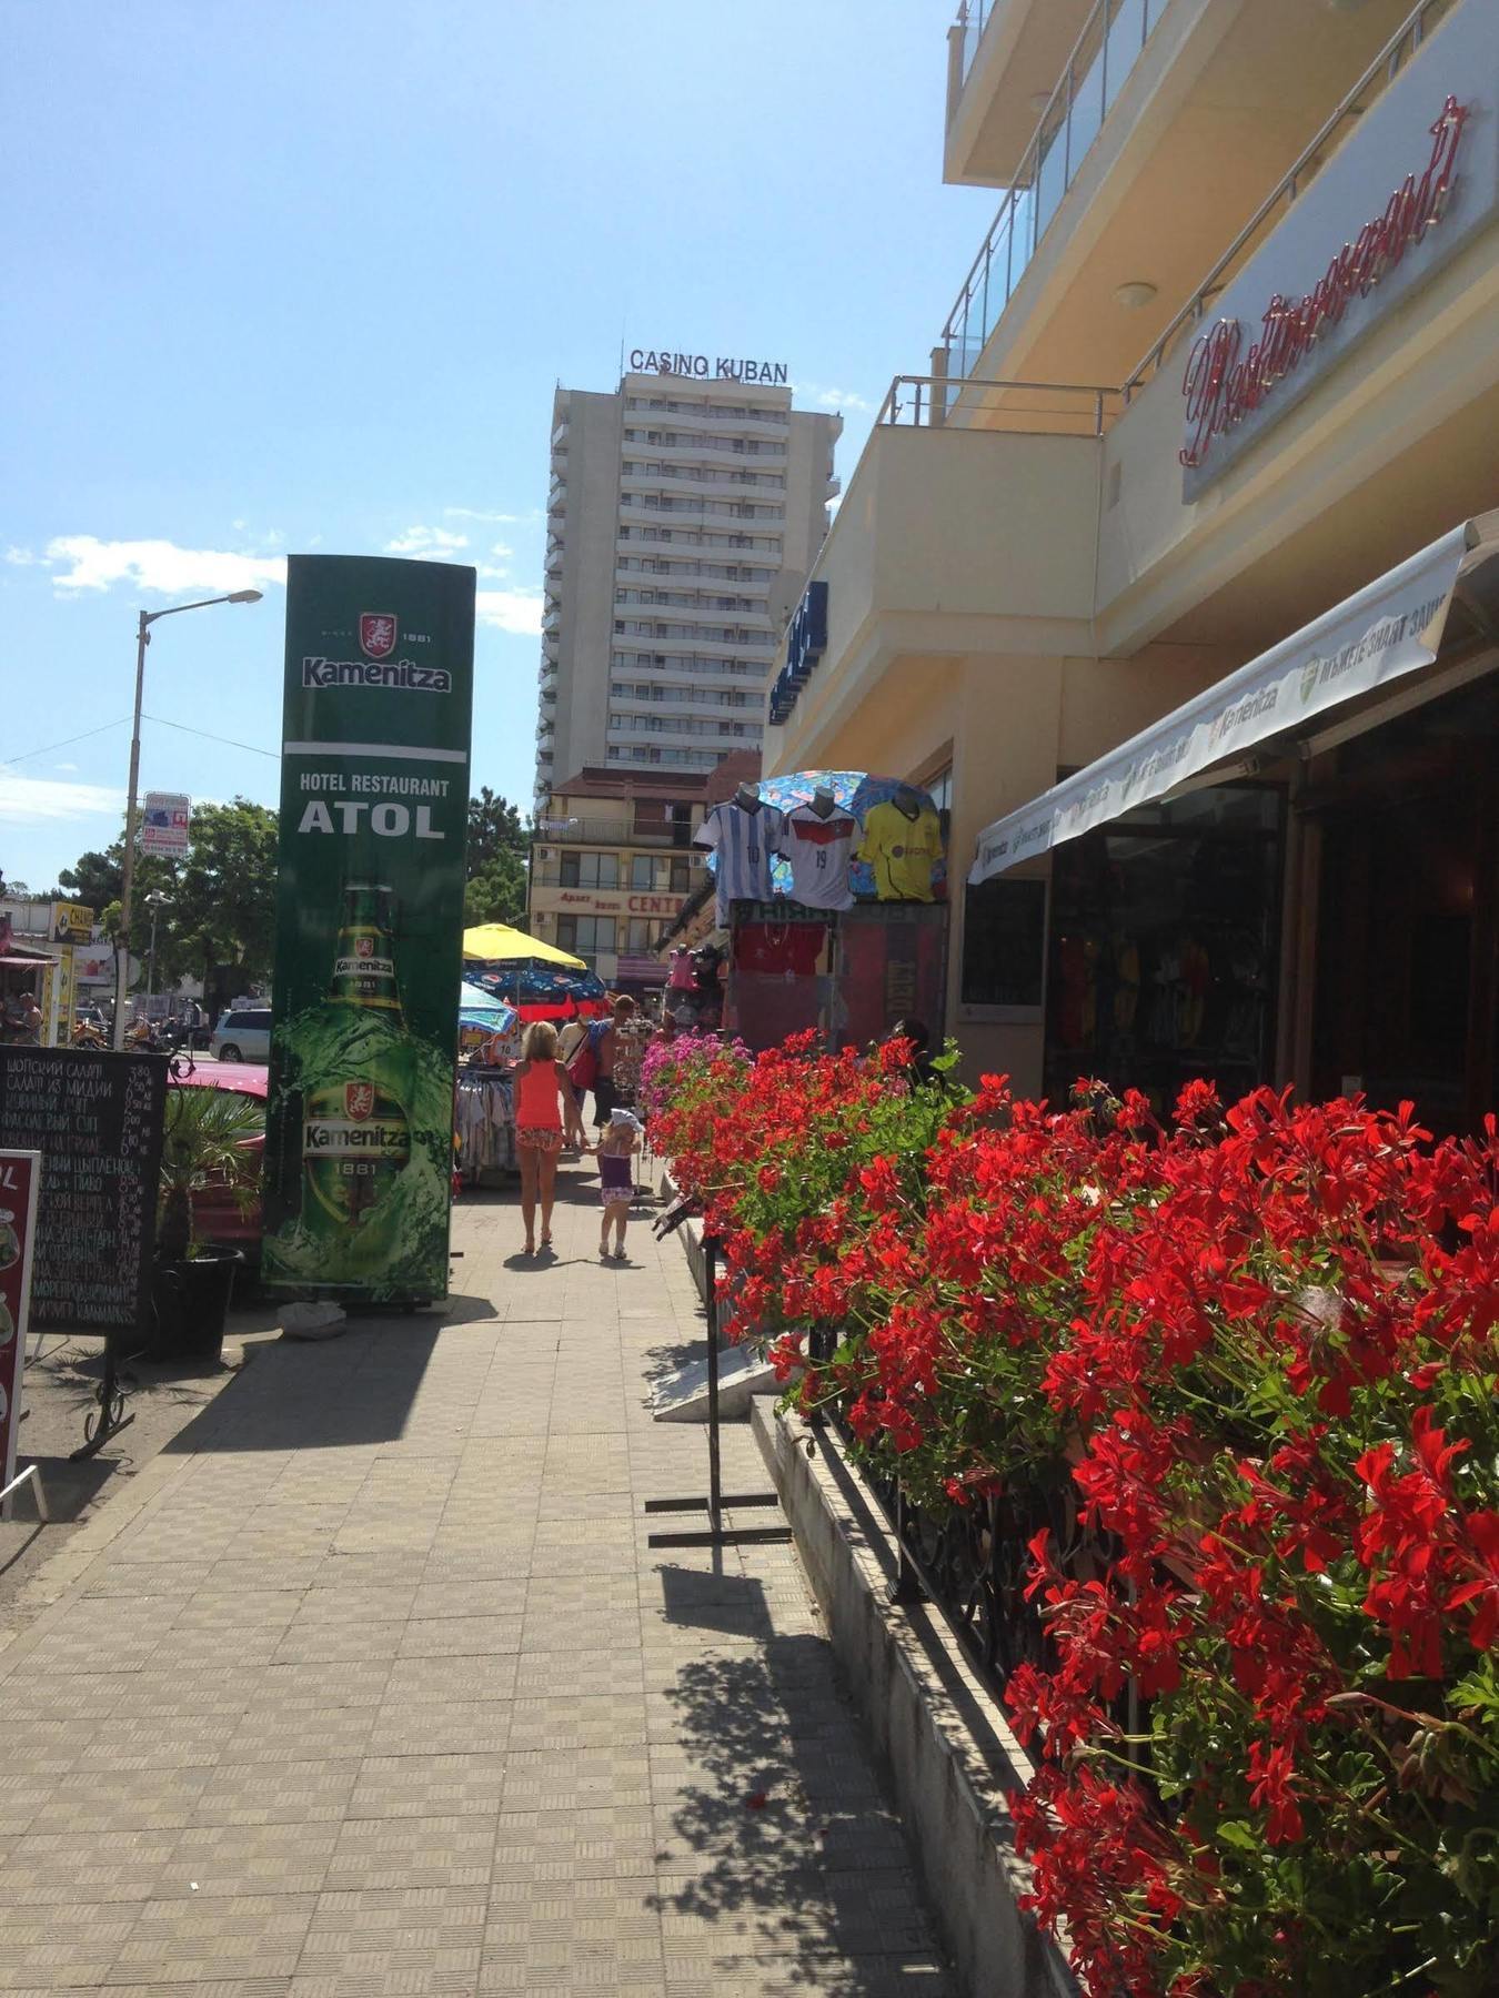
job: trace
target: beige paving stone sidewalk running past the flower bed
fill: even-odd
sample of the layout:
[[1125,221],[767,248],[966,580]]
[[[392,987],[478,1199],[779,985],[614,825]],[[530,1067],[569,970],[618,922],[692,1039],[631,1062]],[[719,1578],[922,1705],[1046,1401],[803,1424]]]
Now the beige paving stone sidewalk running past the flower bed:
[[444,1319],[262,1349],[0,1652],[0,1992],[951,1998],[793,1550],[646,1546],[698,1301],[562,1185],[554,1261],[464,1205]]

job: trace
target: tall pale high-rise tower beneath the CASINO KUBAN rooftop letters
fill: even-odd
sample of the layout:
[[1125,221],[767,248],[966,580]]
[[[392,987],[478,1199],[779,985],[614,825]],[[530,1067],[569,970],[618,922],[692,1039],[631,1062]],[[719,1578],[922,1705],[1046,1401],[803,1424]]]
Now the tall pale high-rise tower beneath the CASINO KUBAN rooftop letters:
[[759,747],[841,428],[761,382],[628,374],[612,396],[558,390],[538,811],[586,767],[704,773]]

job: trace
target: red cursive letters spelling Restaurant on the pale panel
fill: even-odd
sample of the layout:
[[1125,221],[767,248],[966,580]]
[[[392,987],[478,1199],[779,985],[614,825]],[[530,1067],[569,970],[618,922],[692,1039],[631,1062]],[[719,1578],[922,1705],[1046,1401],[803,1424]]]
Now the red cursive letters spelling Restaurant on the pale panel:
[[1431,158],[1421,178],[1405,176],[1383,214],[1365,222],[1351,244],[1343,244],[1305,298],[1291,300],[1281,292],[1271,298],[1259,338],[1243,360],[1239,320],[1219,320],[1193,342],[1181,382],[1191,428],[1191,442],[1177,454],[1183,466],[1201,466],[1213,438],[1259,410],[1275,384],[1301,366],[1323,328],[1337,326],[1349,304],[1367,298],[1385,272],[1441,222],[1467,120],[1467,106],[1449,96],[1441,118],[1431,126]]

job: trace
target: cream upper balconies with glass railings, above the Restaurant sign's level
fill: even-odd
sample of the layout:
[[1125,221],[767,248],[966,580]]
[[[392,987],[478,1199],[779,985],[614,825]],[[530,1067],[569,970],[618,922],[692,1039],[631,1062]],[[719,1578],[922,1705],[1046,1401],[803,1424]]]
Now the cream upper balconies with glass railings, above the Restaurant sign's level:
[[[1425,28],[1455,4],[1431,0]],[[1409,16],[1411,0],[969,0],[947,170],[1005,194],[937,372],[1123,382]]]

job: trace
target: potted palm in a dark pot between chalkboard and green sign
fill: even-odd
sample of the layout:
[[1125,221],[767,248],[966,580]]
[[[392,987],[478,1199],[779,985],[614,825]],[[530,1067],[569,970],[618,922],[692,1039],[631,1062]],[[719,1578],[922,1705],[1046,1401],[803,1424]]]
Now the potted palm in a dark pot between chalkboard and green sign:
[[218,1359],[238,1249],[198,1241],[194,1195],[228,1187],[246,1205],[260,1173],[262,1107],[232,1089],[172,1089],[162,1131],[154,1359]]

